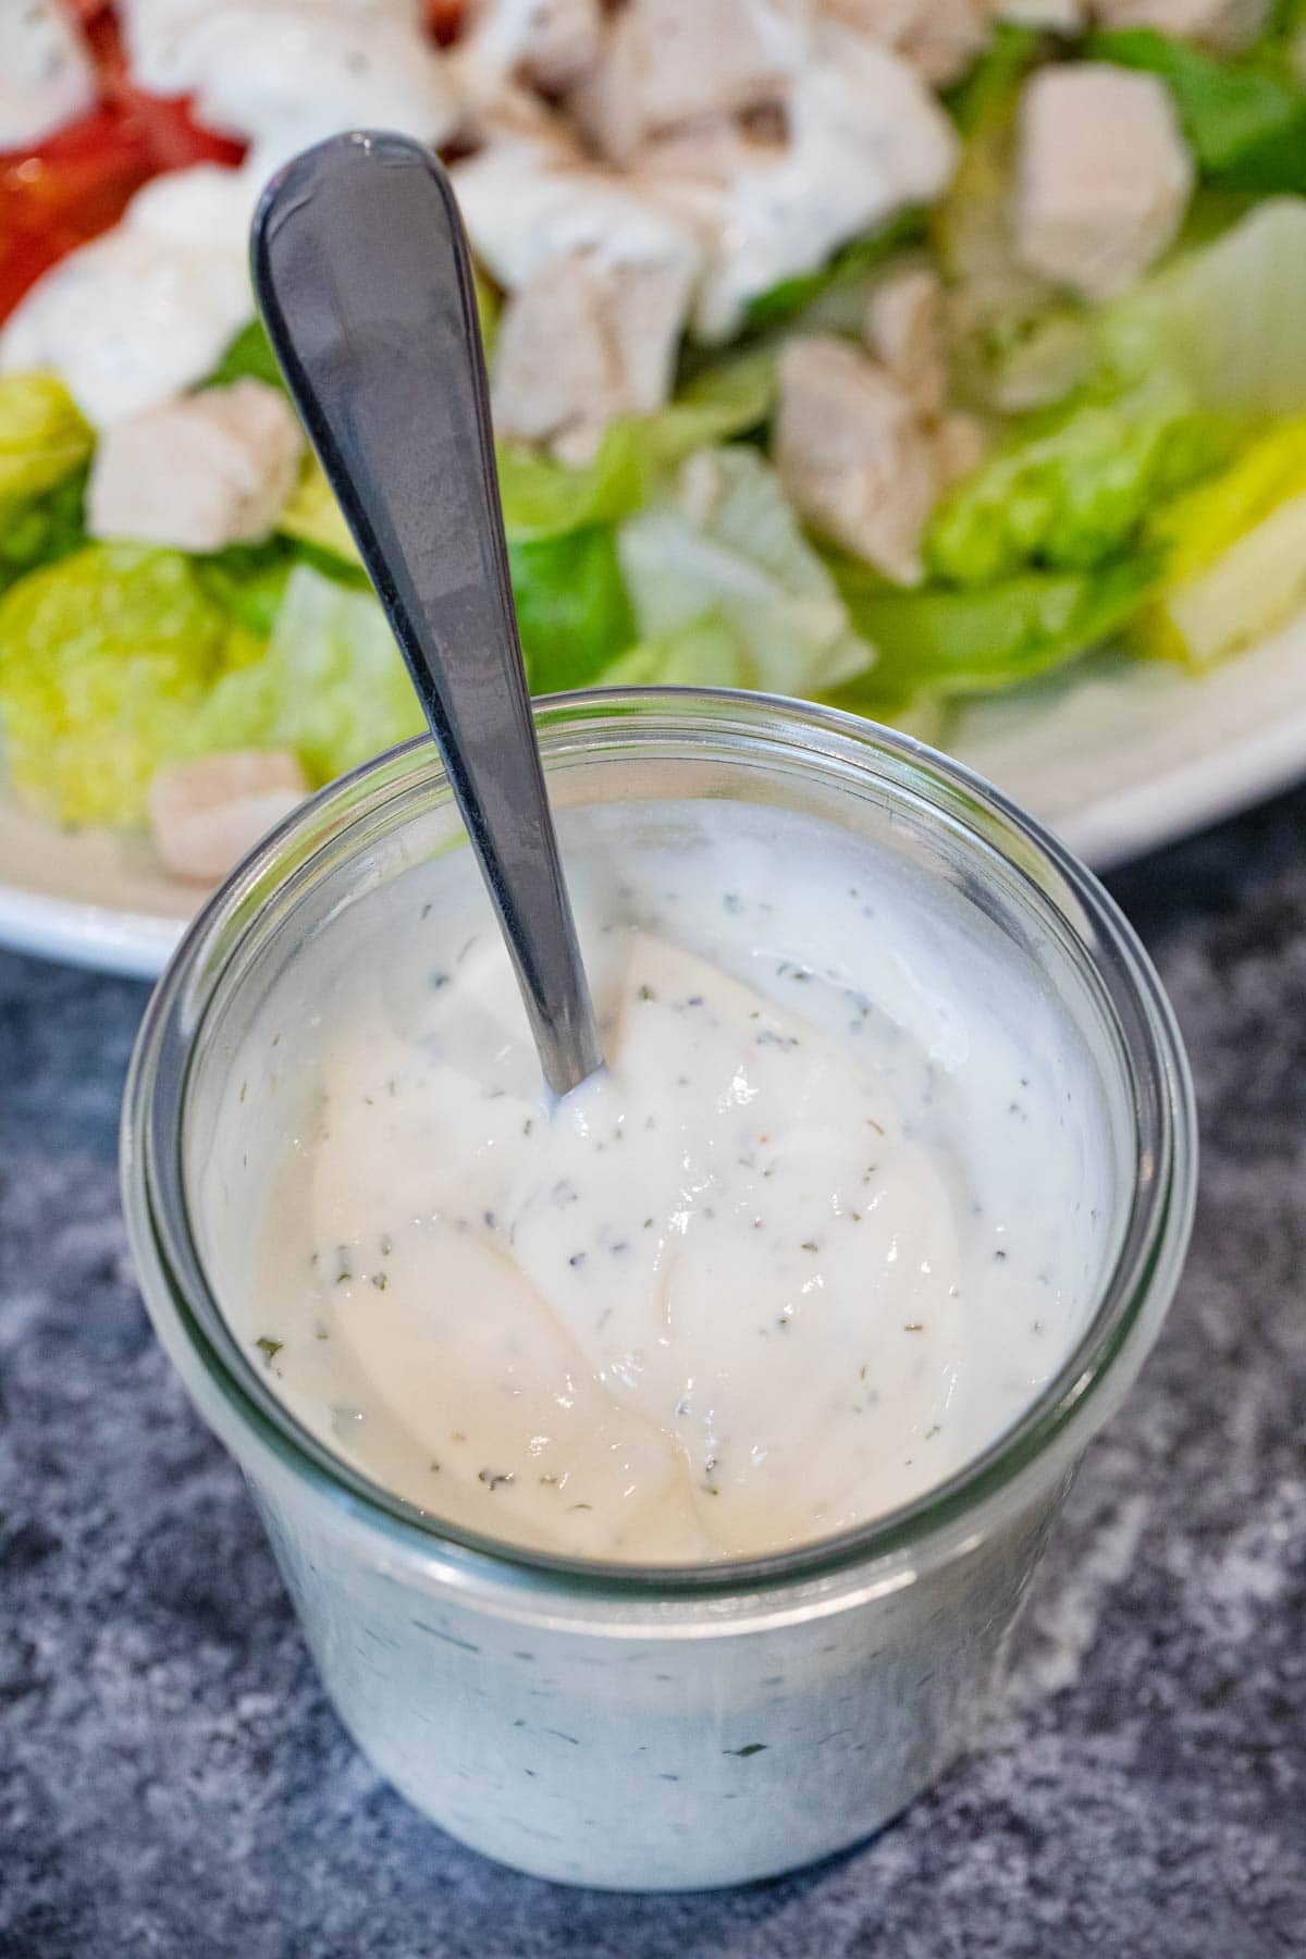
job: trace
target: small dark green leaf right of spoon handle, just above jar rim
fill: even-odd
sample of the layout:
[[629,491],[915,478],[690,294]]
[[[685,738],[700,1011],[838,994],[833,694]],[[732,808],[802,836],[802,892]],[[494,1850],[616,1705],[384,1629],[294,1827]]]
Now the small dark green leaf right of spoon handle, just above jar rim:
[[509,545],[533,693],[585,688],[634,639],[611,525]]

